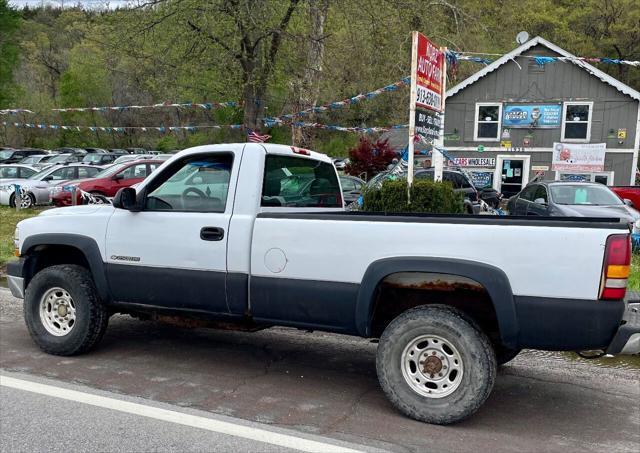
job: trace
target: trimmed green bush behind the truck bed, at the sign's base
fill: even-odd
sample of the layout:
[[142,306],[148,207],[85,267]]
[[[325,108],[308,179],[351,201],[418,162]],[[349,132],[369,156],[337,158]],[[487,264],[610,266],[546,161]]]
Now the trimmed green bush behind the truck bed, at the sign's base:
[[464,196],[449,182],[416,180],[411,186],[411,203],[407,200],[407,180],[387,180],[363,194],[363,210],[369,212],[425,212],[461,214]]

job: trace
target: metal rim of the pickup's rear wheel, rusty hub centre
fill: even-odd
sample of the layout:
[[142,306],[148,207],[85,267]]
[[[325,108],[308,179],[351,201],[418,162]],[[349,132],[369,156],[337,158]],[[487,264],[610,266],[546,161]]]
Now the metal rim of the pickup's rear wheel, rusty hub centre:
[[401,357],[402,375],[409,387],[427,398],[444,398],[462,382],[462,356],[448,340],[420,335],[409,342]]

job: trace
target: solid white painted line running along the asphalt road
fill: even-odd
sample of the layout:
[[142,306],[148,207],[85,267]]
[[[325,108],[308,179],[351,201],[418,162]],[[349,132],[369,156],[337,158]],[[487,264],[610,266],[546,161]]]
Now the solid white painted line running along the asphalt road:
[[148,417],[165,422],[176,423],[178,425],[205,429],[207,431],[213,431],[220,434],[242,437],[244,439],[251,439],[258,442],[277,445],[280,447],[291,448],[293,450],[318,453],[359,453],[358,450],[353,450],[350,448],[324,442],[317,442],[314,440],[305,439],[303,437],[279,434],[272,431],[267,431],[265,429],[236,425],[233,423],[214,420],[211,418],[199,417],[197,415],[190,415],[182,412],[161,409],[158,407],[146,406],[144,404],[122,401],[115,398],[93,395],[91,393],[78,392],[76,390],[54,387],[52,385],[39,384],[37,382],[15,379],[3,375],[0,375],[0,386],[24,390],[32,393],[39,393],[41,395],[61,398],[64,400],[75,401],[83,404],[89,404],[91,406],[103,407],[106,409],[112,409],[128,414],[139,415],[141,417]]

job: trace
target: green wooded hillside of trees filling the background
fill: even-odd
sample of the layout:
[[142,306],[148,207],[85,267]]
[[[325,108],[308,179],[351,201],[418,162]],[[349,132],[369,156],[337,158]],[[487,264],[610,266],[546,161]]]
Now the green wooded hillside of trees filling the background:
[[[0,107],[23,107],[38,121],[85,126],[239,124],[238,108],[58,114],[54,107],[172,102],[241,101],[246,91],[266,91],[258,100],[268,116],[296,110],[296,86],[308,69],[310,2],[300,0],[285,32],[275,33],[292,0],[157,0],[135,9],[78,7],[16,11],[0,0]],[[576,6],[578,5],[578,6]],[[21,16],[21,17],[20,17]],[[366,92],[409,73],[411,30],[458,51],[505,53],[527,30],[582,56],[640,60],[637,0],[330,0],[323,31],[324,59],[318,103]],[[240,26],[241,25],[241,26]],[[19,30],[19,32],[18,32]],[[241,39],[246,34],[248,42]],[[273,64],[270,45],[282,41]],[[253,45],[255,44],[255,48]],[[249,47],[255,60],[242,60]],[[255,64],[255,67],[245,65]],[[640,69],[598,65],[635,89]],[[481,69],[461,62],[449,72],[453,85]],[[250,75],[251,77],[247,78]],[[257,94],[256,94],[257,95]],[[345,126],[387,126],[407,121],[409,90],[385,93],[305,120]],[[288,126],[269,131],[272,141],[291,143]],[[314,130],[312,149],[345,157],[357,135]],[[242,131],[206,130],[98,134],[0,128],[2,144],[178,148],[244,141]]]

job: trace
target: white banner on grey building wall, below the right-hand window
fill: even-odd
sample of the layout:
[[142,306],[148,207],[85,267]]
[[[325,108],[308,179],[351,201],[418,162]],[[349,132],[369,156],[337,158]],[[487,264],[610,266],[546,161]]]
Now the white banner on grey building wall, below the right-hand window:
[[554,171],[604,171],[606,143],[554,143]]

